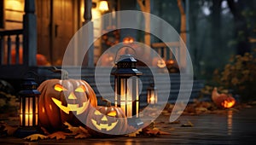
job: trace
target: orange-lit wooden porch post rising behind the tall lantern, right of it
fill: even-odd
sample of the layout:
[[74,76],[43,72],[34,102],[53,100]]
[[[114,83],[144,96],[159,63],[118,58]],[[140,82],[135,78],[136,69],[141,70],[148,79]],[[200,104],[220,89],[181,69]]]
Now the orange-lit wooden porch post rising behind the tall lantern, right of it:
[[[145,19],[145,36],[144,36],[144,42],[146,45],[148,45],[149,47],[151,46],[151,38],[150,38],[150,0],[145,0],[145,3],[143,4],[143,0],[137,0],[137,3],[139,4],[141,10],[144,13],[148,13],[148,14],[144,14],[144,19]],[[148,51],[147,51],[148,50]],[[144,49],[144,53],[145,55],[150,55],[150,49]]]

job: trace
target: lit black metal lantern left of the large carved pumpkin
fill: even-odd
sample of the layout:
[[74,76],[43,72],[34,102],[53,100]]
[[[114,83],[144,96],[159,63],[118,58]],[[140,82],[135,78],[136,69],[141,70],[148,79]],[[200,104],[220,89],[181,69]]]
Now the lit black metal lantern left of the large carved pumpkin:
[[38,132],[38,98],[40,92],[33,78],[27,78],[21,84],[20,96],[20,128],[17,136],[29,136]]

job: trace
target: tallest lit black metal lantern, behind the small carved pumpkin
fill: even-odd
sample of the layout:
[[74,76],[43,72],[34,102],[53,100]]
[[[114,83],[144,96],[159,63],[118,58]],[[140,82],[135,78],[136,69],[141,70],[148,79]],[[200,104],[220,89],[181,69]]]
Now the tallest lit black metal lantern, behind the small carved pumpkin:
[[136,68],[137,61],[132,55],[121,55],[116,63],[114,75],[114,104],[121,107],[128,119],[139,118],[139,81],[143,73]]

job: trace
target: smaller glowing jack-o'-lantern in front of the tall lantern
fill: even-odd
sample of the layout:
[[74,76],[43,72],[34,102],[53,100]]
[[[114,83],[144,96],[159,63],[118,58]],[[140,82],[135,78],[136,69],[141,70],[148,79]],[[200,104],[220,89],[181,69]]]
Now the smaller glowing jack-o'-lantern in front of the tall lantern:
[[125,134],[127,118],[120,107],[92,107],[86,125],[91,135],[113,136]]

